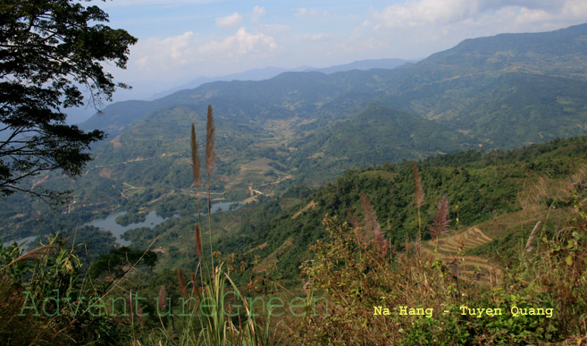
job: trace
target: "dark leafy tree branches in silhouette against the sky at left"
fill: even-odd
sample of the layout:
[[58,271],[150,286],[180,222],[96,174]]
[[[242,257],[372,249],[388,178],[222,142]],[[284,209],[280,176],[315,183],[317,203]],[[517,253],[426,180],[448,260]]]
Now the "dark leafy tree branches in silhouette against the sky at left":
[[46,170],[80,174],[89,145],[105,138],[67,124],[63,108],[87,98],[96,107],[117,87],[130,88],[115,83],[103,63],[125,68],[137,38],[107,21],[97,6],[71,0],[0,4],[1,194],[35,192],[21,182]]

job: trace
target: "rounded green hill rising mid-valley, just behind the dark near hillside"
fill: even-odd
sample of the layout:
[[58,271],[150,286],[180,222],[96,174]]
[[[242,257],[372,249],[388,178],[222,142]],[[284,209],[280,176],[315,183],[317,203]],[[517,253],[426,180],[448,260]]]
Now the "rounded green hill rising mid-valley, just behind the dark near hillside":
[[339,176],[350,167],[420,159],[477,147],[477,143],[469,140],[420,116],[372,104],[359,114],[294,141],[292,146],[297,150],[283,164],[307,167],[307,175],[298,181],[312,185],[314,181]]

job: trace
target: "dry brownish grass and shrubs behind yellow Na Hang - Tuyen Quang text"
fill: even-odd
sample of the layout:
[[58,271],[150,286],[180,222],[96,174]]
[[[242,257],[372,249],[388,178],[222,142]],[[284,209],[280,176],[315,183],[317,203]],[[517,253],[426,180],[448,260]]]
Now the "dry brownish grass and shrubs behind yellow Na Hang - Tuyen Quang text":
[[430,244],[431,250],[420,253],[407,244],[406,252],[386,254],[376,238],[365,236],[372,227],[369,217],[363,226],[356,219],[350,225],[326,216],[329,239],[311,248],[314,259],[303,264],[302,273],[308,304],[323,294],[328,305],[318,316],[308,310],[296,320],[291,337],[340,345],[581,340],[587,335],[586,210],[580,181],[566,226],[542,232],[537,224],[524,240],[527,246],[519,247],[515,265],[489,282],[479,280],[481,272],[467,276],[455,270],[470,260],[462,252],[449,257]]

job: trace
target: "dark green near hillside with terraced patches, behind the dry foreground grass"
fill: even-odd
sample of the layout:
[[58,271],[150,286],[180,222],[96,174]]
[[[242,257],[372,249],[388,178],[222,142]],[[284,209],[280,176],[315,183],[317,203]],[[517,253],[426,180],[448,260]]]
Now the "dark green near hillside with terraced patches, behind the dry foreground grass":
[[[373,205],[390,245],[396,251],[404,251],[406,241],[415,241],[418,232],[412,165],[404,162],[350,170],[320,188],[292,188],[281,198],[217,215],[213,227],[218,230],[218,238],[214,247],[224,255],[234,253],[236,262],[247,263],[248,270],[258,270],[257,266],[264,267],[277,260],[271,277],[295,285],[299,265],[310,258],[306,249],[326,236],[322,224],[324,215],[349,223],[353,219],[351,214],[362,219],[361,194],[364,194]],[[499,251],[513,256],[499,258],[500,266],[507,266],[507,261],[515,260],[513,254],[519,245],[516,239],[527,238],[537,221],[548,218],[549,214],[551,227],[560,220],[566,221],[563,210],[572,207],[571,190],[577,181],[584,179],[583,176],[577,178],[576,174],[587,173],[587,137],[559,139],[508,152],[469,150],[433,156],[418,166],[425,194],[423,240],[430,239],[428,227],[440,198],[448,194],[450,229],[466,233],[476,225],[493,245],[480,248],[484,251],[475,255],[482,254],[487,261],[496,256],[492,251],[498,246]],[[562,209],[551,213],[552,206]],[[163,238],[155,246],[164,244],[164,247],[184,249],[180,250],[184,253],[191,236],[188,225],[194,221],[174,221],[175,226],[170,227],[170,231],[164,231],[164,224],[158,226],[159,231],[153,236],[163,232]],[[465,250],[472,251],[488,241],[475,242],[474,247],[465,247]],[[141,244],[148,242],[149,238],[143,238]],[[449,243],[451,241],[440,247],[446,248],[448,254],[456,251]],[[284,247],[283,244],[289,245]],[[189,261],[189,252],[185,254]],[[178,255],[170,259],[166,266],[186,263]],[[255,262],[257,265],[253,265]],[[247,274],[244,277],[247,278]]]

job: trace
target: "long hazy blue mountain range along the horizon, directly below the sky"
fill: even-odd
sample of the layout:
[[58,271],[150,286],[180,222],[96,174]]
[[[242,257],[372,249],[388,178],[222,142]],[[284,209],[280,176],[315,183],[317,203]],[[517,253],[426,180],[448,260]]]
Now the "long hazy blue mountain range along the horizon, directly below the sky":
[[[474,136],[482,135],[497,146],[513,148],[559,135],[575,135],[576,129],[585,125],[578,119],[585,111],[581,97],[587,77],[586,36],[587,24],[582,24],[552,32],[467,39],[419,63],[394,70],[328,75],[286,72],[271,80],[208,83],[151,101],[148,106],[135,105],[134,101],[111,105],[105,114],[94,116],[83,126],[104,128],[114,136],[158,109],[208,103],[217,107],[219,114],[234,115],[241,121],[322,118],[328,114],[340,117],[360,111],[365,100],[377,100],[407,113],[446,122],[453,129],[473,131]],[[566,87],[560,89],[561,86]],[[526,108],[536,106],[538,99],[548,109]],[[530,131],[517,119],[529,117],[536,126]],[[560,117],[558,124],[567,130],[549,137],[550,132],[558,131],[549,129],[554,117]],[[518,142],[508,142],[499,137],[499,131],[482,133],[482,127],[493,118],[499,123],[512,122],[512,131],[524,128],[524,136],[518,137]]]

